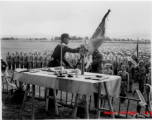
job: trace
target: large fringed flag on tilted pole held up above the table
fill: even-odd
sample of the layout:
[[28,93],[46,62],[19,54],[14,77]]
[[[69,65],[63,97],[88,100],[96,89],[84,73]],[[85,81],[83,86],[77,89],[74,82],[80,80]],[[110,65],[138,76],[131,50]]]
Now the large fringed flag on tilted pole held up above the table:
[[105,20],[109,12],[110,10],[105,14],[91,39],[88,41],[87,49],[89,54],[92,54],[96,49],[98,49],[105,40]]

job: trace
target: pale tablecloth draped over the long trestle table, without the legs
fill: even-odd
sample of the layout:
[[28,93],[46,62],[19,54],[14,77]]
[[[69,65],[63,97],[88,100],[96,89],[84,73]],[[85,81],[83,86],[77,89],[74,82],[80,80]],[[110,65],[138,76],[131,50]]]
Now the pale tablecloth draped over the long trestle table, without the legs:
[[[13,75],[14,80],[18,80],[24,83],[38,85],[41,87],[47,87],[52,89],[57,89],[61,91],[78,93],[84,95],[93,95],[94,92],[97,92],[98,83],[107,82],[107,88],[109,94],[114,97],[119,97],[121,78],[119,76],[103,75],[103,80],[91,80],[85,79],[85,77],[96,76],[95,73],[85,72],[84,75],[78,75],[76,77],[57,77],[54,73],[39,71],[36,73],[30,72],[15,72]],[[108,78],[107,78],[108,77]],[[105,94],[104,87],[102,87],[102,94]]]

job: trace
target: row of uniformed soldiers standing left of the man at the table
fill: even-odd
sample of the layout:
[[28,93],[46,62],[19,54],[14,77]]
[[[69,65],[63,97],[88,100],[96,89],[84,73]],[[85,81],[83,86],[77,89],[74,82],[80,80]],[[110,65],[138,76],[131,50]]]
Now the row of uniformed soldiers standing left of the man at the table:
[[6,55],[6,62],[8,69],[15,70],[16,68],[41,68],[47,67],[48,62],[50,61],[50,54],[52,51],[44,52],[26,52],[20,54],[18,52],[11,53],[8,52]]

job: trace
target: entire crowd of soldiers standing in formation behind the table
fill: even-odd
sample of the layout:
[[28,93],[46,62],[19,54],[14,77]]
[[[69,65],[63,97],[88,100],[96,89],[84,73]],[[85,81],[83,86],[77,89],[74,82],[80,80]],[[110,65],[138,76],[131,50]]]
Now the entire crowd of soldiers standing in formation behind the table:
[[[139,90],[141,93],[144,92],[144,84],[148,81],[151,81],[150,70],[150,56],[143,57],[139,56],[139,64],[135,66],[130,60],[130,53],[123,53],[121,50],[111,50],[107,51],[105,49],[99,50],[103,55],[103,60],[101,62],[101,70],[99,73],[110,74],[110,75],[119,75],[122,78],[121,83],[121,96],[126,96],[126,92],[132,92],[132,84],[134,82],[139,83]],[[49,61],[51,60],[52,51],[43,51],[43,52],[28,52],[16,54],[9,53],[6,56],[6,62],[8,69],[15,70],[16,68],[42,68],[47,67]],[[67,61],[75,66],[80,60],[79,53],[68,53],[66,54]],[[80,62],[80,61],[79,61]],[[88,57],[85,57],[85,63],[88,62]],[[93,62],[93,61],[92,61]],[[81,63],[80,63],[81,64]],[[81,69],[81,65],[78,65]],[[91,71],[91,70],[86,70]],[[151,84],[151,82],[149,82]]]

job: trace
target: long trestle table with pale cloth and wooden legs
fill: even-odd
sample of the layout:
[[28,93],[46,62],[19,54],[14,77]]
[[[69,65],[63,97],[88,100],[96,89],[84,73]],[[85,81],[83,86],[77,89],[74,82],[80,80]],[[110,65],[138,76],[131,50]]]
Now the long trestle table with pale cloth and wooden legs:
[[[36,73],[15,72],[13,75],[13,79],[28,84],[26,92],[25,92],[25,96],[24,96],[25,99],[27,97],[27,93],[29,90],[29,84],[32,84],[32,112],[31,112],[32,119],[34,119],[35,85],[54,89],[53,99],[55,100],[56,114],[58,114],[56,90],[76,93],[76,100],[75,100],[74,110],[73,110],[73,114],[72,114],[73,117],[76,116],[77,107],[79,106],[78,105],[79,96],[85,95],[86,104],[84,105],[84,107],[86,110],[86,118],[89,118],[87,96],[93,95],[94,92],[98,93],[98,87],[96,87],[96,85],[98,85],[99,83],[100,84],[107,83],[106,91],[102,89],[103,87],[101,84],[101,93],[108,94],[108,96],[110,94],[111,96],[119,97],[119,89],[120,89],[120,83],[121,83],[121,78],[119,76],[103,75],[103,78],[105,78],[105,79],[102,79],[102,80],[85,79],[86,77],[92,77],[95,75],[97,75],[97,74],[85,72],[84,75],[78,75],[78,77],[75,77],[75,75],[74,75],[74,77],[70,78],[67,76],[66,77],[57,77],[56,75],[54,75],[54,73],[46,72],[46,71],[39,71]],[[98,75],[102,75],[102,74],[98,74]],[[22,109],[24,108],[25,99],[23,100]],[[111,106],[111,108],[112,108],[112,106]],[[46,109],[47,109],[47,105],[46,105]],[[111,109],[111,111],[113,111],[113,109]],[[21,114],[22,114],[22,112],[21,112]]]

